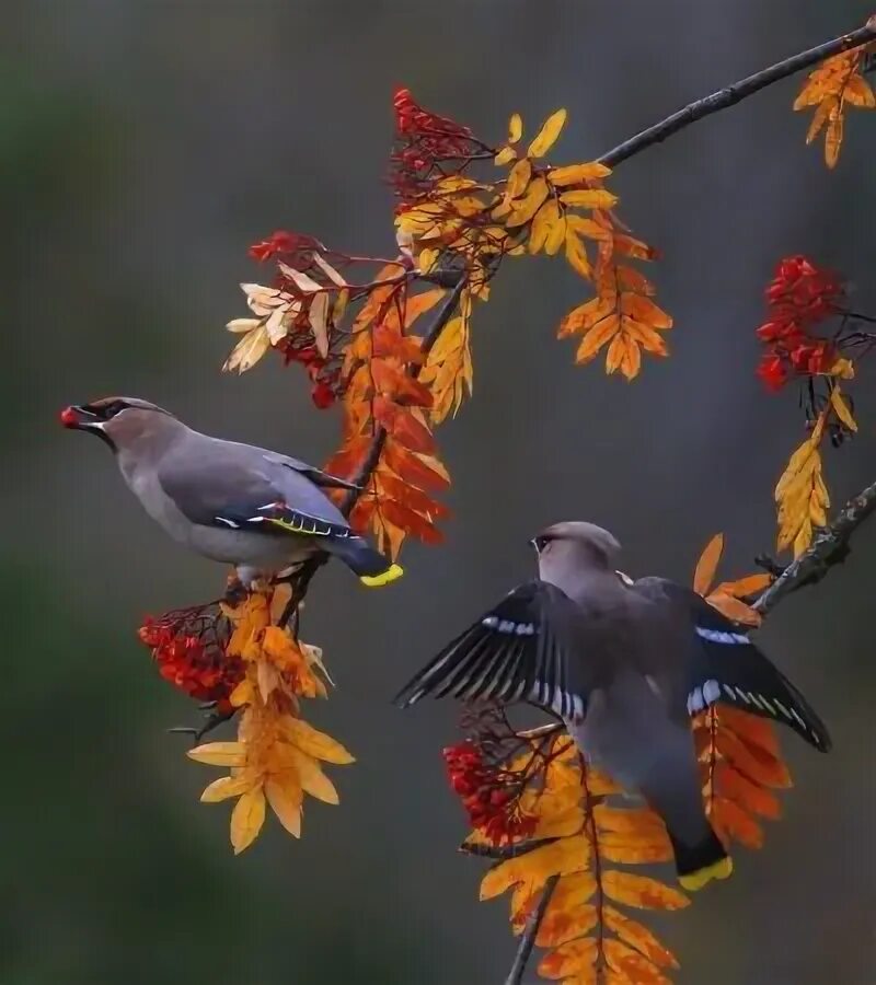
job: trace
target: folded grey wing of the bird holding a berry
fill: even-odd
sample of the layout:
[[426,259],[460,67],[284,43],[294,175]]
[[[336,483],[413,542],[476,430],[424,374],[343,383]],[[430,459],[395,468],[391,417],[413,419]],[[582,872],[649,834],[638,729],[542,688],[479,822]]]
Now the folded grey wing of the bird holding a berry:
[[262,449],[218,440],[189,444],[165,456],[158,480],[177,509],[201,526],[350,535],[341,511],[310,479]]

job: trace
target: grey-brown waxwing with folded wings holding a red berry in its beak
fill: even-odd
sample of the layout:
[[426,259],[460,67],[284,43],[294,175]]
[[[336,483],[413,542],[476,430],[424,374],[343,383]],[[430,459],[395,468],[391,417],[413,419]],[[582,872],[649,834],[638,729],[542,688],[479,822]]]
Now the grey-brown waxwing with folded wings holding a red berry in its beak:
[[314,554],[341,558],[369,587],[402,575],[322,491],[356,486],[312,465],[200,434],[134,397],[67,407],[61,422],[103,439],[147,513],[178,543],[234,565],[246,587]]

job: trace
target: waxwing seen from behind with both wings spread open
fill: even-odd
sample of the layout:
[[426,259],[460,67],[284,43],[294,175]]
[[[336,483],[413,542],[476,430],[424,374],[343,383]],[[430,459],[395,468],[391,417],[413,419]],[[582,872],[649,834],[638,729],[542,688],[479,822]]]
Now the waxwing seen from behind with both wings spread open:
[[685,889],[726,879],[733,864],[705,815],[691,717],[727,703],[822,752],[827,729],[746,630],[694,591],[616,571],[608,531],[557,523],[532,543],[538,579],[458,636],[396,702],[452,695],[553,711],[590,762],[662,818]]

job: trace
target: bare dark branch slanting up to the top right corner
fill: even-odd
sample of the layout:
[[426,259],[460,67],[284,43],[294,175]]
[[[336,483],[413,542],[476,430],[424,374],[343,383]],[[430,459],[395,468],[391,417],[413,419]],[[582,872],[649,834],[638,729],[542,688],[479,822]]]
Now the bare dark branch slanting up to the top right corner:
[[850,34],[843,34],[841,37],[837,37],[823,45],[800,51],[799,55],[794,55],[784,61],[771,65],[753,76],[748,76],[746,79],[734,82],[733,85],[727,85],[702,100],[689,103],[682,109],[660,120],[660,123],[648,127],[647,130],[642,130],[635,137],[619,143],[618,147],[602,154],[599,161],[609,167],[615,167],[621,161],[632,158],[633,154],[639,153],[639,151],[652,147],[652,144],[661,143],[667,137],[683,130],[684,127],[696,123],[698,119],[703,119],[703,117],[711,116],[713,113],[735,106],[761,89],[772,85],[773,82],[779,82],[781,79],[793,76],[795,72],[823,61],[826,58],[848,51],[850,48],[856,48],[858,45],[874,39],[876,39],[876,22],[858,27],[857,31],[852,31]]

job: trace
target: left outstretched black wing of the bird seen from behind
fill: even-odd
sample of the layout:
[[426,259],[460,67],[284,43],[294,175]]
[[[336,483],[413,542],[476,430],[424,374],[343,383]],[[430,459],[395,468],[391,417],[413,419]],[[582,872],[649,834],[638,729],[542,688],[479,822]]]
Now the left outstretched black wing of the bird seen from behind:
[[579,615],[555,586],[528,581],[445,647],[395,702],[406,708],[427,694],[465,702],[527,700],[565,718],[583,718],[587,695],[570,661]]

